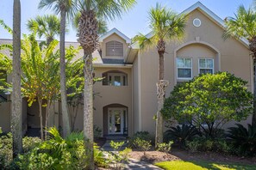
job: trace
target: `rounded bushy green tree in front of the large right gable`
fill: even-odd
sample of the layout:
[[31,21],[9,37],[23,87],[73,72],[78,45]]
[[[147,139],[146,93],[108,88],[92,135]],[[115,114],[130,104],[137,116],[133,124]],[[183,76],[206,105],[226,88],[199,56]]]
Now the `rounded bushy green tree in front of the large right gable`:
[[161,112],[165,118],[186,118],[212,137],[222,124],[244,120],[253,112],[253,94],[246,85],[246,81],[227,72],[197,76],[178,84]]

